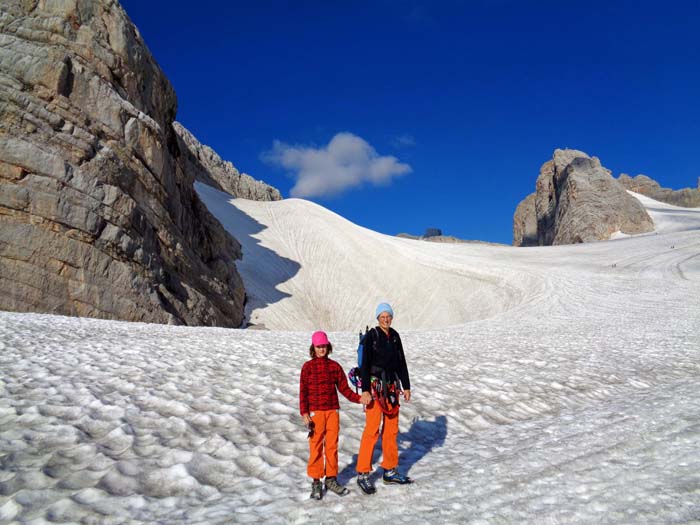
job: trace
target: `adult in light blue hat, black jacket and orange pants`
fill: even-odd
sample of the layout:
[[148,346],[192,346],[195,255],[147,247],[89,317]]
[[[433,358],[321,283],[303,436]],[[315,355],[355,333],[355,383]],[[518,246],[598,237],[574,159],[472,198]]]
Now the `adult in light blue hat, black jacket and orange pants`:
[[[357,456],[357,484],[365,494],[376,489],[369,473],[372,453],[382,427],[382,462],[384,483],[404,485],[411,479],[398,472],[399,403],[398,392],[403,389],[406,401],[411,399],[411,382],[401,337],[391,328],[394,310],[388,303],[380,303],[375,310],[378,325],[367,332],[360,365],[362,396],[365,405],[365,429]],[[382,425],[382,422],[384,423]]]

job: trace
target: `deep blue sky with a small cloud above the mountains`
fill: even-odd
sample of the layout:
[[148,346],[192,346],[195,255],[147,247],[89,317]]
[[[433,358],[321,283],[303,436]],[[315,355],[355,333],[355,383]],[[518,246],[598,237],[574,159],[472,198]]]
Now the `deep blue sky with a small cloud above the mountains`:
[[700,177],[698,1],[122,5],[202,143],[382,233],[510,244],[555,148]]

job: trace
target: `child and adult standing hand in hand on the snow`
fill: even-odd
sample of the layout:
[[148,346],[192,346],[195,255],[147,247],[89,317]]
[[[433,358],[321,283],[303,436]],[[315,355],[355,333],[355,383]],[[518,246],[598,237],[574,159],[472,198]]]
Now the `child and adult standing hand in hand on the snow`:
[[[411,399],[411,385],[406,365],[401,338],[391,328],[394,312],[387,303],[377,306],[375,317],[379,323],[367,333],[360,363],[362,379],[362,396],[350,390],[345,373],[337,362],[328,358],[332,346],[324,332],[315,332],[311,337],[309,349],[312,359],[304,363],[301,371],[299,389],[299,408],[304,423],[309,427],[309,462],[307,474],[313,479],[311,497],[321,499],[323,496],[320,478],[325,474],[326,490],[345,495],[348,490],[337,481],[338,473],[338,432],[339,404],[337,390],[349,401],[365,405],[365,429],[362,434],[360,451],[357,458],[357,483],[366,494],[376,492],[369,474],[372,470],[372,453],[382,429],[382,468],[384,483],[406,484],[411,480],[396,470],[399,461],[398,399],[391,411],[385,410],[386,400],[382,397],[381,387],[386,387],[384,379],[393,387],[398,379],[403,386],[406,401]],[[398,385],[397,385],[398,386]],[[336,390],[337,389],[337,390]],[[386,392],[386,388],[384,388]],[[381,399],[378,399],[381,398]],[[380,403],[381,402],[381,403]],[[325,449],[325,451],[324,451]],[[325,456],[325,469],[324,459]]]

